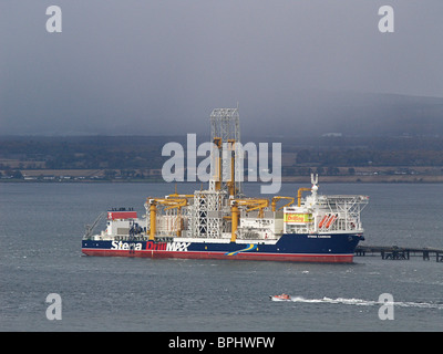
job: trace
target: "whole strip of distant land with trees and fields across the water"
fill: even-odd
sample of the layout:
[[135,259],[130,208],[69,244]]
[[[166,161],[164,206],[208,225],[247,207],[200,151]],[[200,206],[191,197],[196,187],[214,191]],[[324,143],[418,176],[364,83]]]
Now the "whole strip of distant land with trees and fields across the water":
[[[0,181],[163,181],[163,146],[185,136],[0,136]],[[203,143],[197,142],[197,145]],[[250,137],[268,143],[267,169],[284,183],[443,183],[443,137]],[[281,143],[272,171],[271,144]],[[197,158],[197,166],[205,157]],[[257,162],[256,162],[257,164]],[[185,156],[183,176],[187,176]],[[253,166],[254,167],[254,166]],[[251,166],[244,159],[245,179]],[[258,180],[259,174],[255,173]]]

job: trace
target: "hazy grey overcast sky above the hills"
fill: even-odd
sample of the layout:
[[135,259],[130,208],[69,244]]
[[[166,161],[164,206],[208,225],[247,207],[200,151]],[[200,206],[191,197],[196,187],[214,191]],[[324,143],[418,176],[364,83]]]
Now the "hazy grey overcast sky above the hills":
[[244,132],[287,134],[337,93],[443,97],[442,19],[442,0],[2,0],[0,134],[207,133],[237,102]]

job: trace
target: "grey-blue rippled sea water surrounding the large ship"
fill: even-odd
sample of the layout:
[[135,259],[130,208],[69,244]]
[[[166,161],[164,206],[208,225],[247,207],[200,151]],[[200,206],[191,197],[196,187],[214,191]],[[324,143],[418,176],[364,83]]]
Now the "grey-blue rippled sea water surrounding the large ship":
[[[245,185],[247,195],[258,190]],[[84,225],[101,211],[144,211],[145,197],[173,191],[166,184],[0,184],[0,330],[443,331],[443,263],[420,257],[309,264],[82,256]],[[367,244],[443,248],[442,185],[320,184],[320,191],[370,196]],[[281,292],[295,301],[269,300]],[[49,293],[62,299],[61,321],[45,316]],[[382,293],[394,299],[394,320],[379,319]]]

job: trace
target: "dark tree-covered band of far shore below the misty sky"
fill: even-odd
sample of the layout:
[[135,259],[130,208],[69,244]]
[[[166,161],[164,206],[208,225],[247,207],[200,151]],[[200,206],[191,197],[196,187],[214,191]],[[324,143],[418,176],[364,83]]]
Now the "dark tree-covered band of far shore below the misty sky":
[[[19,169],[161,169],[168,156],[162,148],[168,136],[0,137],[0,170]],[[254,140],[254,139],[250,139]],[[260,142],[262,139],[256,138]],[[313,137],[284,138],[282,174],[309,174],[312,169],[349,174],[364,166],[443,166],[440,137]],[[11,162],[16,162],[12,167]],[[134,175],[131,173],[127,175]]]

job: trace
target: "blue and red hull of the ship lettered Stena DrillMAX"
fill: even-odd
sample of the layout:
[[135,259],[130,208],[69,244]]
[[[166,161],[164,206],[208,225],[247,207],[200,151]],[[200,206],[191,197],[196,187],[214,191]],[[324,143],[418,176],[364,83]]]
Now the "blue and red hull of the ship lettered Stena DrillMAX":
[[286,233],[277,242],[266,240],[229,240],[167,238],[148,240],[83,240],[87,256],[241,259],[351,263],[360,233],[308,235]]

